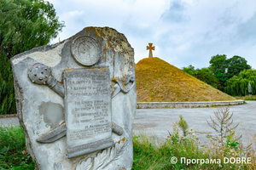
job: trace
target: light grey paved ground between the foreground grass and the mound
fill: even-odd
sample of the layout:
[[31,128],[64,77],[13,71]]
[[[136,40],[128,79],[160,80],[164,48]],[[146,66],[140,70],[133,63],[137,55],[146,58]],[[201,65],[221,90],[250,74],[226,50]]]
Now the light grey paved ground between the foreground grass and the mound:
[[[237,134],[243,134],[242,143],[247,144],[248,139],[256,133],[256,101],[246,101],[245,105],[232,105],[230,112],[233,112],[234,125],[240,123],[236,128]],[[193,129],[200,142],[206,141],[207,133],[216,135],[209,125],[210,116],[215,119],[214,111],[218,108],[183,108],[183,109],[138,109],[133,124],[134,133],[144,133],[152,136],[158,141],[164,141],[169,135],[168,130],[172,133],[172,123],[179,121],[179,115],[188,122],[189,129]],[[9,123],[19,124],[17,117],[0,118],[0,124],[8,125]]]

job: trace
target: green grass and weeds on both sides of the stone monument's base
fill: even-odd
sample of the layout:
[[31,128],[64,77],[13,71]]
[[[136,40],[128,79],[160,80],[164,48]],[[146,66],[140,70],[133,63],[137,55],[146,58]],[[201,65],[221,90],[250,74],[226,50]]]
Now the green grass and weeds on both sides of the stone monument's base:
[[[234,145],[235,144],[235,145]],[[20,126],[0,126],[0,170],[2,169],[34,169],[31,156],[26,151],[25,137]],[[183,136],[178,124],[174,124],[173,133],[162,144],[143,133],[133,137],[133,170],[150,169],[255,169],[255,150],[243,149],[236,142],[220,145],[209,137],[205,145],[201,145],[192,131]],[[23,151],[24,152],[24,151]],[[202,164],[181,162],[186,159],[221,159],[224,157],[252,157],[252,164]],[[177,157],[177,163],[172,164],[170,158]]]

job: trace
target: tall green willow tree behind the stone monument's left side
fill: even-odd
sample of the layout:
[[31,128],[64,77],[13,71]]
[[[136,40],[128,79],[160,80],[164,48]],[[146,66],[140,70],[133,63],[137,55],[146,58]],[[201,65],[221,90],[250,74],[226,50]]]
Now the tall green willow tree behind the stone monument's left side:
[[55,8],[44,0],[0,1],[0,115],[15,113],[10,58],[46,45],[64,26]]

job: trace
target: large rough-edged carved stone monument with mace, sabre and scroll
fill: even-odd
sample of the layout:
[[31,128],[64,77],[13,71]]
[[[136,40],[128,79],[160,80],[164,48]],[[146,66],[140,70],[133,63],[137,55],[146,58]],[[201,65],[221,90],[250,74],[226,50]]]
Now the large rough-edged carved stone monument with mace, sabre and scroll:
[[11,59],[26,150],[42,170],[131,169],[134,51],[108,27],[86,27]]

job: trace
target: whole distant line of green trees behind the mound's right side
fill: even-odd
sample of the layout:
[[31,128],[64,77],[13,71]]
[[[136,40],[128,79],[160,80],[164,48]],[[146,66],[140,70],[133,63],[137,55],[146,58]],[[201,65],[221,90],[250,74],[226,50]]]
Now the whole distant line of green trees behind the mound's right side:
[[247,95],[250,82],[252,93],[256,94],[256,71],[247,65],[246,59],[238,55],[227,59],[225,54],[217,54],[212,56],[209,63],[207,68],[195,69],[193,65],[189,65],[183,67],[183,71],[232,96]]

